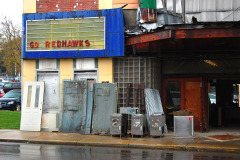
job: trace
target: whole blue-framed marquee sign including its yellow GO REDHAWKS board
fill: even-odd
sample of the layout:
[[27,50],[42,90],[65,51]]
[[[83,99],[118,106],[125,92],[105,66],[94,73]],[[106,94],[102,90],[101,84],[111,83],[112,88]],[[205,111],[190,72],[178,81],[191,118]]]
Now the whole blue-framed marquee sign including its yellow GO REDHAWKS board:
[[23,14],[22,58],[124,55],[121,9]]

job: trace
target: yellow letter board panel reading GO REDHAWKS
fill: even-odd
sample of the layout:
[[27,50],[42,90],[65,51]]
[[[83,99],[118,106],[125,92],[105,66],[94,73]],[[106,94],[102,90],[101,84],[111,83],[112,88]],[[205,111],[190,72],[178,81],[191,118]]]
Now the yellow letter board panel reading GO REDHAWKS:
[[27,21],[27,51],[105,49],[105,18]]

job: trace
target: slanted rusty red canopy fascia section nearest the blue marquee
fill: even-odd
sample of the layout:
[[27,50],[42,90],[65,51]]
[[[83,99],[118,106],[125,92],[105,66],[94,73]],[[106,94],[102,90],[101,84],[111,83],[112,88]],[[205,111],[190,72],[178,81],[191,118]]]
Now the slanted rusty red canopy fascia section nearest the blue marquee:
[[149,34],[139,35],[135,37],[130,37],[126,40],[126,45],[133,45],[138,43],[169,39],[171,37],[172,37],[172,31],[165,30],[161,32],[155,32],[155,33],[149,33]]

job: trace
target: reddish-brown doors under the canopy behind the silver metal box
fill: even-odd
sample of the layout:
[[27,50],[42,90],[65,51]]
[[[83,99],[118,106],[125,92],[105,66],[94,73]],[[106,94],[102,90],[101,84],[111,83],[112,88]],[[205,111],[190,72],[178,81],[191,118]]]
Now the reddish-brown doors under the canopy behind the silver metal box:
[[202,79],[164,79],[163,107],[169,128],[173,127],[175,111],[187,110],[194,116],[194,129],[202,131]]

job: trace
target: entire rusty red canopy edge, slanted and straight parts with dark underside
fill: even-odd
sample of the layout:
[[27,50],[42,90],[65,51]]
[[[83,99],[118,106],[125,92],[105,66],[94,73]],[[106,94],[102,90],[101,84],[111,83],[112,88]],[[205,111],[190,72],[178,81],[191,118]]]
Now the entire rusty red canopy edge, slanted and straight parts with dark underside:
[[[234,23],[235,24],[235,23]],[[207,26],[206,26],[207,27]],[[206,28],[205,27],[205,28]],[[217,27],[217,26],[216,26]],[[218,46],[217,49],[239,49],[238,39],[240,37],[239,28],[208,28],[208,29],[185,29],[176,27],[177,30],[171,28],[171,37],[168,39],[160,39],[159,37],[154,37],[154,33],[145,34],[141,36],[131,37],[126,40],[127,44],[132,44],[136,52],[152,52],[160,53],[164,51],[182,51],[195,50],[197,48],[214,50],[216,46],[213,43],[223,43],[226,45]],[[150,35],[150,36],[148,36]],[[153,39],[150,39],[150,37]],[[146,39],[144,39],[146,37]],[[224,40],[228,38],[228,40]],[[231,39],[229,39],[231,38]],[[184,39],[186,44],[178,43],[180,41],[175,41],[175,39]],[[139,43],[140,42],[140,43]],[[135,43],[135,44],[134,44]],[[161,46],[161,47],[159,47]],[[129,47],[130,48],[130,47]]]

